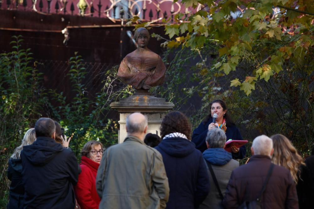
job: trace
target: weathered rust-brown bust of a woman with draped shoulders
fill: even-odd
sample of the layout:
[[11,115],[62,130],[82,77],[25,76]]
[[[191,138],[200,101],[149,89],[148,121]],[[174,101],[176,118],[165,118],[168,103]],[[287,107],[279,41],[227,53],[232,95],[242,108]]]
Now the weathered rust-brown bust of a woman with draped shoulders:
[[165,80],[166,66],[159,55],[147,48],[148,30],[136,29],[134,38],[138,48],[121,61],[118,77],[137,90],[161,85]]

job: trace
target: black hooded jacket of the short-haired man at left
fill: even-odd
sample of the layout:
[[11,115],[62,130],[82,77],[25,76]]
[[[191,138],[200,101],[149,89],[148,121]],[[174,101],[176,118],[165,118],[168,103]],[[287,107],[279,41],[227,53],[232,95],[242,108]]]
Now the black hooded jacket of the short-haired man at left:
[[73,209],[78,181],[74,153],[53,138],[37,137],[21,151],[24,208]]

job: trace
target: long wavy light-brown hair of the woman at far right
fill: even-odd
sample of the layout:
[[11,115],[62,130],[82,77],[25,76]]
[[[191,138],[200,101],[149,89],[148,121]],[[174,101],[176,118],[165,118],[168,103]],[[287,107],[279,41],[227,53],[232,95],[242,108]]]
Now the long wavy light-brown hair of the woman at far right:
[[295,184],[298,184],[300,166],[305,165],[303,158],[298,154],[290,140],[284,135],[276,134],[270,138],[273,139],[273,163],[289,169],[292,179],[295,181]]

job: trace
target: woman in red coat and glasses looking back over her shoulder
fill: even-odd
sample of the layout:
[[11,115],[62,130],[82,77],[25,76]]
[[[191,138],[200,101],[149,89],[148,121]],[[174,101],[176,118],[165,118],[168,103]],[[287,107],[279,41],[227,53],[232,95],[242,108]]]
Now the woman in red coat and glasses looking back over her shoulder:
[[100,197],[96,191],[96,175],[103,153],[103,145],[94,140],[87,142],[81,151],[82,172],[78,175],[78,183],[75,186],[76,199],[81,209],[99,207]]

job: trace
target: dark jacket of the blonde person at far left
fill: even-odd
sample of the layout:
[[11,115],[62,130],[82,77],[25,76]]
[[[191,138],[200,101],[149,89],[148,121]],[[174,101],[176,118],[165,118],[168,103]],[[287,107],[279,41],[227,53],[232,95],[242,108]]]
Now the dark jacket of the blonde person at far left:
[[22,161],[21,159],[10,159],[8,167],[8,179],[11,181],[9,203],[7,209],[23,208],[24,186],[22,180]]

